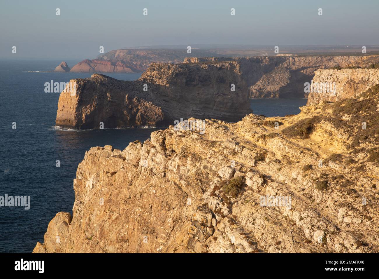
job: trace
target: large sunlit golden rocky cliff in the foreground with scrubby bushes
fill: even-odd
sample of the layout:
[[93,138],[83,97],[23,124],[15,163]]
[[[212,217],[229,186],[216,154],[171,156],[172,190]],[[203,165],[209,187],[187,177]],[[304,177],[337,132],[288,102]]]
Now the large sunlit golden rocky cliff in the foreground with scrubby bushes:
[[379,252],[378,101],[93,147],[33,252]]

